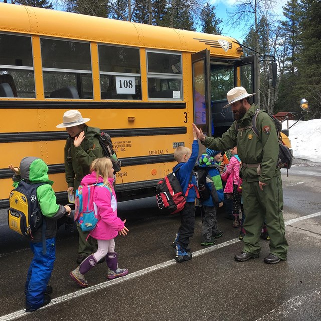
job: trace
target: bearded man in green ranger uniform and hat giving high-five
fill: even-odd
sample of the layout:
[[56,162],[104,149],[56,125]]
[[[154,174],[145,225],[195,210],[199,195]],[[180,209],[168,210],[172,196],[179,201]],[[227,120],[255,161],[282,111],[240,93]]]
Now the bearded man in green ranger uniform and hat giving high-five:
[[279,144],[274,121],[265,112],[257,116],[259,137],[254,134],[251,121],[258,106],[251,105],[248,99],[253,95],[255,93],[248,94],[243,87],[235,87],[227,93],[228,104],[223,108],[231,106],[236,120],[222,138],[206,137],[202,129],[193,126],[207,148],[228,150],[237,146],[242,161],[240,176],[243,178],[246,235],[243,250],[235,255],[235,260],[243,262],[259,257],[259,237],[265,220],[270,236],[270,253],[264,262],[276,264],[286,260],[288,250],[282,214],[282,179],[277,166]]

